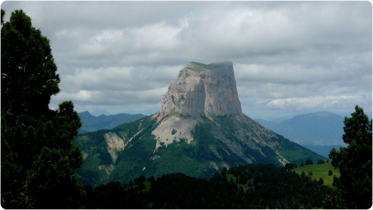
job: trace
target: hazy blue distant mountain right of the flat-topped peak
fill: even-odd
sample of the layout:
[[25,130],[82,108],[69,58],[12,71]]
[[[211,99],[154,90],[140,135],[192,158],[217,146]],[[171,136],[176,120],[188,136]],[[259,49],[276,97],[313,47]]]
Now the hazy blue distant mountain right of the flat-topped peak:
[[[280,123],[257,119],[262,126],[300,145],[344,145],[344,118],[328,111],[297,115]],[[320,153],[319,153],[320,154]]]

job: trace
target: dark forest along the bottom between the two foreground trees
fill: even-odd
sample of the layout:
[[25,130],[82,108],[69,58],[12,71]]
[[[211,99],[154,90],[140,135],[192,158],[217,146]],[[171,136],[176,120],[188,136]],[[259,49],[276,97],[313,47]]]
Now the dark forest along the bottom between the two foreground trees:
[[285,167],[250,164],[221,169],[209,180],[170,173],[85,191],[87,209],[311,209],[322,207],[331,189]]

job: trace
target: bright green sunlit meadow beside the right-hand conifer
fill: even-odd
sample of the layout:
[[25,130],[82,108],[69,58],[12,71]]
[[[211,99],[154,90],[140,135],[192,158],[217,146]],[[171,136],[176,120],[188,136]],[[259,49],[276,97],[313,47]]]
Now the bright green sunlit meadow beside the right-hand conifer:
[[[336,175],[339,177],[340,173],[338,169],[334,169],[332,164],[324,163],[324,164],[313,164],[313,165],[304,165],[302,167],[297,167],[294,169],[299,175],[301,175],[302,171],[304,171],[305,175],[308,175],[309,171],[312,171],[313,175],[312,178],[316,178],[319,180],[320,177],[324,180],[324,185],[332,186],[333,183],[333,176]],[[332,170],[333,176],[328,176],[329,170]]]

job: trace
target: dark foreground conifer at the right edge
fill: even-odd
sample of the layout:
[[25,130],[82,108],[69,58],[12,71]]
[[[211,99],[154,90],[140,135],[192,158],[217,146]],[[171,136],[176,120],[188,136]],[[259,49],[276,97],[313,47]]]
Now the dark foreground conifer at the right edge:
[[347,147],[333,148],[329,158],[339,169],[340,177],[333,177],[336,190],[325,202],[328,209],[369,209],[372,207],[372,120],[363,108],[355,106],[351,117],[345,117]]

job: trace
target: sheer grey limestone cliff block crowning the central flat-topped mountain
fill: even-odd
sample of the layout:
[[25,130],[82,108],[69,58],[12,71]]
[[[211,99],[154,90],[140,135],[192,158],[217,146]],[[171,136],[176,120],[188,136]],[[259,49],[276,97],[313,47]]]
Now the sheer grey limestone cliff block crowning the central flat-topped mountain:
[[235,115],[242,112],[232,62],[190,62],[180,70],[163,96],[159,113]]

